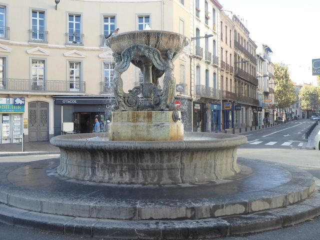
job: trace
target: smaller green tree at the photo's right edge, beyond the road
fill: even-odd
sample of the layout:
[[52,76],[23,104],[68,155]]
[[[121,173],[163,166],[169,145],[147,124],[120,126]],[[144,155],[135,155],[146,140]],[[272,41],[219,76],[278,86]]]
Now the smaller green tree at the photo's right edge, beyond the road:
[[304,85],[299,92],[300,106],[303,110],[318,109],[319,89],[315,86]]

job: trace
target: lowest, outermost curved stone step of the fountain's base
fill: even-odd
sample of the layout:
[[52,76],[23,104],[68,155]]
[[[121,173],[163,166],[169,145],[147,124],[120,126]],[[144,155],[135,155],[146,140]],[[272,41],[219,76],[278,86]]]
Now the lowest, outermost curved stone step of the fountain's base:
[[0,221],[60,234],[107,239],[192,239],[277,229],[320,215],[318,190],[308,199],[283,208],[247,215],[193,220],[110,220],[61,216],[0,204]]

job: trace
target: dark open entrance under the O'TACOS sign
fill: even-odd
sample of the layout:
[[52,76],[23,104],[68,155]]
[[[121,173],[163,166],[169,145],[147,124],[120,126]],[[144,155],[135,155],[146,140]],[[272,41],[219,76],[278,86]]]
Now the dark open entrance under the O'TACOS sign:
[[95,118],[98,118],[100,122],[100,131],[105,131],[104,112],[73,112],[74,131],[77,133],[92,132]]

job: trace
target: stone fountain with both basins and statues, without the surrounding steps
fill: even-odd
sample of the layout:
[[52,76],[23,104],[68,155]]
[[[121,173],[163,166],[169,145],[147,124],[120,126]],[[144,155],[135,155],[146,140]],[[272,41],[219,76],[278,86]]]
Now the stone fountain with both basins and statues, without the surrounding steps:
[[[239,172],[236,148],[246,137],[188,132],[173,104],[173,61],[189,40],[168,31],[132,31],[106,40],[113,51],[116,105],[108,137],[57,136],[62,176],[107,183],[179,184],[210,182]],[[143,83],[128,92],[121,78],[129,64]],[[158,78],[163,77],[163,87]],[[87,138],[98,136],[97,141]]]

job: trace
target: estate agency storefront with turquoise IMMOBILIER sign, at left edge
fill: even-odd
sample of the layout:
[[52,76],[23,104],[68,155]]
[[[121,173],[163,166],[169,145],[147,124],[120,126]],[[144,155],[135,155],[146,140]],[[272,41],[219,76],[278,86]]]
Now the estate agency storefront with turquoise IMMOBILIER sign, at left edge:
[[21,142],[24,97],[0,97],[0,143]]

